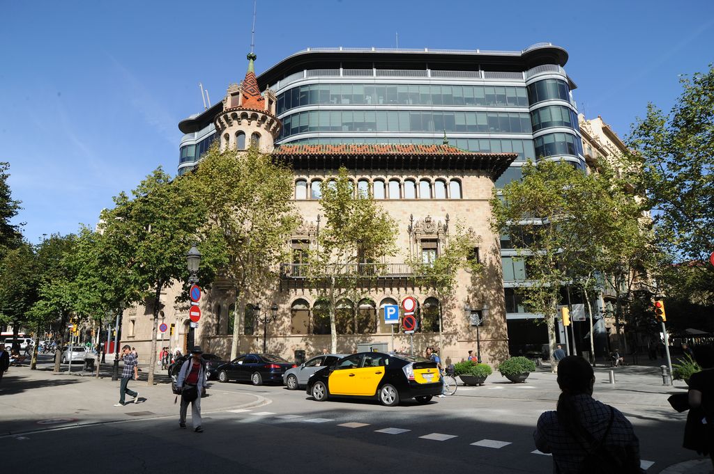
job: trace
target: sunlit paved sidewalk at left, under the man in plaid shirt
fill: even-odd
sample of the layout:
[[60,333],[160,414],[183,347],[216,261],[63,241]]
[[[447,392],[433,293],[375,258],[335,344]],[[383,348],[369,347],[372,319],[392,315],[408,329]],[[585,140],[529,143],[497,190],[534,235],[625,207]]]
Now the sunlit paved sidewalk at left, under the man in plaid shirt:
[[[139,403],[115,407],[114,403],[119,401],[119,381],[111,381],[111,372],[108,373],[109,376],[98,379],[79,376],[79,371],[70,375],[54,373],[51,368],[31,371],[27,366],[12,367],[0,383],[0,437],[137,418],[176,416],[178,420],[176,396],[168,383],[149,386],[146,372],[140,373],[139,381],[129,382],[129,388],[139,393]],[[168,382],[168,377],[163,377]],[[203,413],[210,413],[263,403],[266,399],[261,396],[221,390],[216,383],[209,382],[208,397],[201,401],[201,408]]]

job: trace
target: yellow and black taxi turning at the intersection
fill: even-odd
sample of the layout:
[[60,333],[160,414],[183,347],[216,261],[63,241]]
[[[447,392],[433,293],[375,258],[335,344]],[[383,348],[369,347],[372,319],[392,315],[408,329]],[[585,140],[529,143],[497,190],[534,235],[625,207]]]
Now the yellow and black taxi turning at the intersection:
[[307,393],[316,401],[376,398],[385,406],[395,406],[416,398],[427,403],[441,393],[441,373],[436,362],[413,354],[361,352],[313,373]]

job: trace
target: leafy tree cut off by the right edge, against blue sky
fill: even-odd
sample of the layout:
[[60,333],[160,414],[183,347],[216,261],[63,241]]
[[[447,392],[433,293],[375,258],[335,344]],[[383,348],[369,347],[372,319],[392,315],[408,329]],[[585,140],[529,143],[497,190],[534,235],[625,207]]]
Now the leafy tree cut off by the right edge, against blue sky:
[[[628,145],[641,170],[652,209],[655,237],[669,255],[660,266],[664,294],[714,303],[714,66],[683,76],[682,93],[670,113],[649,104],[636,120]],[[683,277],[678,275],[683,274]]]

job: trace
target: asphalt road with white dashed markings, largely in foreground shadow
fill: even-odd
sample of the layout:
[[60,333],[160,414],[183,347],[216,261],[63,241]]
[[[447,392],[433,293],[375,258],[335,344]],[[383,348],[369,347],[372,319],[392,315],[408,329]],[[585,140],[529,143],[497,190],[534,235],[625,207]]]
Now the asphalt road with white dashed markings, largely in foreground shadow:
[[[213,382],[210,391],[216,395],[248,394],[261,404],[216,410],[212,403],[218,397],[205,398],[203,433],[191,431],[190,417],[189,429],[179,429],[178,413],[137,415],[0,436],[0,447],[12,453],[3,462],[10,472],[24,472],[30,462],[132,474],[226,469],[281,474],[551,473],[550,456],[534,453],[532,433],[540,413],[555,408],[557,390],[544,391],[552,384],[547,376],[519,386],[492,377],[486,386],[460,387],[455,396],[434,398],[427,405],[406,401],[393,408],[371,401],[318,403],[304,391]],[[601,386],[603,393],[605,389]],[[684,416],[641,392],[641,399],[635,394],[628,403],[608,403],[633,422],[647,472],[695,458],[680,448]],[[116,410],[106,404],[107,412]],[[175,409],[178,412],[178,406]],[[119,410],[126,415],[146,413],[142,404]]]

